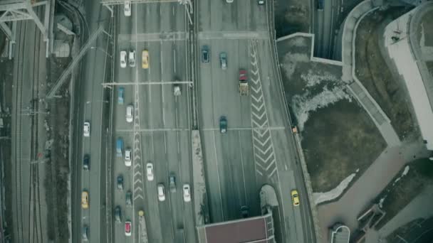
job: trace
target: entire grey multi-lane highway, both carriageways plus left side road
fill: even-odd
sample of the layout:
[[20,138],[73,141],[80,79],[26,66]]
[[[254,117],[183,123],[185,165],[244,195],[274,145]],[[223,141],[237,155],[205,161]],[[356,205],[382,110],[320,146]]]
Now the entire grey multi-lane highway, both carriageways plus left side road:
[[[81,191],[87,190],[90,206],[75,205],[74,237],[80,239],[83,225],[88,225],[90,242],[142,242],[137,213],[143,210],[148,242],[197,242],[193,202],[184,202],[182,195],[182,185],[192,184],[195,92],[194,129],[202,134],[211,221],[239,219],[243,205],[250,216],[259,215],[259,190],[270,184],[280,203],[274,211],[278,241],[314,242],[276,58],[271,55],[270,3],[196,1],[195,32],[190,32],[184,6],[175,2],[132,4],[131,16],[126,16],[123,4],[115,5],[112,18],[109,11],[88,3],[86,10],[95,13],[88,17],[89,32],[103,25],[110,38],[98,38],[90,48],[82,66],[85,81],[75,95],[80,99],[75,124],[80,139],[74,168],[81,171],[83,156],[89,154],[90,170],[77,174],[80,190],[74,195],[78,202]],[[203,45],[209,46],[209,63],[202,63]],[[122,68],[120,52],[128,55],[132,50],[135,65],[127,56]],[[149,68],[142,68],[143,50],[148,50]],[[221,69],[221,52],[227,53],[226,70]],[[193,72],[191,67],[196,67]],[[249,95],[242,97],[240,69],[247,71],[249,80]],[[103,82],[111,84],[103,87]],[[177,82],[179,96],[174,95]],[[123,102],[118,102],[120,88]],[[128,105],[134,107],[132,121],[126,119]],[[219,132],[223,115],[227,134]],[[84,121],[91,124],[88,138],[81,135]],[[116,154],[118,139],[121,156]],[[125,164],[127,149],[132,151],[131,166]],[[147,178],[147,163],[153,165],[153,180]],[[169,175],[176,178],[176,192],[169,190]],[[165,185],[164,201],[158,200],[158,184]],[[301,193],[301,207],[291,203],[295,188]],[[127,191],[132,193],[131,206]],[[117,206],[120,222],[114,215]],[[126,221],[132,222],[132,236],[125,234]]]

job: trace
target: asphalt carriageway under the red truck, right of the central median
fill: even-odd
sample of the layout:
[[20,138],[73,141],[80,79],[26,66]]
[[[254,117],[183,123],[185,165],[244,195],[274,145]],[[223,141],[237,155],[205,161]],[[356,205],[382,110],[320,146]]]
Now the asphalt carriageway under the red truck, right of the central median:
[[[259,190],[270,184],[280,207],[273,214],[278,242],[314,242],[306,190],[291,125],[289,124],[276,63],[269,41],[270,2],[199,1],[198,47],[199,128],[211,222],[260,215]],[[273,28],[273,26],[271,27]],[[210,63],[202,63],[202,46],[210,49]],[[221,69],[219,54],[227,53]],[[248,72],[248,96],[238,91],[239,70]],[[228,121],[226,134],[219,119]],[[293,207],[290,192],[298,189],[301,206]],[[303,200],[303,198],[305,198]]]

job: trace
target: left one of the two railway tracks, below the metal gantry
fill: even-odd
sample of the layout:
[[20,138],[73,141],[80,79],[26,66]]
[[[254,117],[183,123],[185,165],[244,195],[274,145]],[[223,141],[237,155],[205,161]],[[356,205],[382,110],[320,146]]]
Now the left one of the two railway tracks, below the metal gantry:
[[[19,23],[19,43],[24,42],[25,34],[27,28],[26,22]],[[19,48],[19,45],[17,45]],[[16,242],[21,243],[24,242],[23,228],[24,228],[24,220],[23,220],[23,196],[22,196],[22,111],[23,111],[23,68],[24,68],[24,48],[21,48],[17,51],[19,55],[17,56],[18,60],[18,68],[16,69],[16,100],[15,100],[15,129],[13,129],[12,136],[15,137],[15,190],[16,190]]]

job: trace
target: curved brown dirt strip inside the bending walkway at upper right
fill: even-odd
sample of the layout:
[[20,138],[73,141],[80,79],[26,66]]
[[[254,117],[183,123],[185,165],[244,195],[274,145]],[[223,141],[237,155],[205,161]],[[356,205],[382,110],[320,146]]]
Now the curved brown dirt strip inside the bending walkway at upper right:
[[358,46],[355,53],[356,75],[390,118],[400,140],[414,139],[419,136],[419,131],[405,83],[393,75],[392,67],[387,67],[380,52],[379,40],[382,34],[380,26],[406,11],[392,8],[365,16],[358,26],[355,43]]

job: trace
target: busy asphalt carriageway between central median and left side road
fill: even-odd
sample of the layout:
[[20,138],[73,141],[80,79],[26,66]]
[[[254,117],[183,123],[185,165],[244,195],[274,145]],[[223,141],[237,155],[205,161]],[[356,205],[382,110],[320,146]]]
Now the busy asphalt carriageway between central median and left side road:
[[[119,85],[113,102],[118,88],[125,89],[124,104],[115,103],[113,108],[115,139],[122,138],[124,148],[133,151],[131,167],[125,166],[125,149],[113,162],[113,175],[124,178],[124,189],[114,189],[113,194],[113,206],[122,208],[122,223],[113,230],[115,242],[138,239],[138,210],[145,211],[149,242],[197,242],[192,202],[184,202],[182,194],[182,185],[192,182],[190,90],[182,84],[182,94],[174,97],[171,83],[187,80],[186,36],[187,16],[177,3],[132,4],[132,16],[125,16],[123,6],[115,6],[115,82]],[[145,49],[148,69],[142,68]],[[121,50],[136,51],[135,67],[120,68]],[[125,118],[128,104],[135,107],[130,123]],[[152,181],[147,180],[146,163],[154,166]],[[170,174],[176,178],[175,193],[169,191]],[[158,183],[165,185],[163,202],[157,198]],[[133,207],[125,205],[127,190],[133,194]],[[125,236],[125,220],[132,221],[133,237]]]

